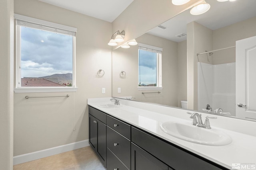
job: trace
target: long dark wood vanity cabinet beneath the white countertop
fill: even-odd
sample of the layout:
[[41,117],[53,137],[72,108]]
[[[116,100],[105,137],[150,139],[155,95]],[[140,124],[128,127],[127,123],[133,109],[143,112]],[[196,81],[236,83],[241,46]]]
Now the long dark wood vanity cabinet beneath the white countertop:
[[89,106],[89,143],[107,170],[228,170]]

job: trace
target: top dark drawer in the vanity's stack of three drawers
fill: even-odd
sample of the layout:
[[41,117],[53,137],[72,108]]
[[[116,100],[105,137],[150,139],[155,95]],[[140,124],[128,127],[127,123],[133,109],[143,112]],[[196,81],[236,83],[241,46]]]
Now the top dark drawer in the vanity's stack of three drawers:
[[107,115],[107,125],[126,137],[127,139],[131,140],[131,126],[115,119],[114,117],[111,117]]

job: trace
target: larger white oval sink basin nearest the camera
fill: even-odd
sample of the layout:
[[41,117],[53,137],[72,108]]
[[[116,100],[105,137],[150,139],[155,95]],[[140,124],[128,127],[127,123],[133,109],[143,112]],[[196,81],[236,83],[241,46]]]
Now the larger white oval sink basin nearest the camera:
[[165,122],[160,125],[162,131],[173,137],[202,145],[224,146],[232,143],[232,139],[224,132],[205,129],[191,124]]

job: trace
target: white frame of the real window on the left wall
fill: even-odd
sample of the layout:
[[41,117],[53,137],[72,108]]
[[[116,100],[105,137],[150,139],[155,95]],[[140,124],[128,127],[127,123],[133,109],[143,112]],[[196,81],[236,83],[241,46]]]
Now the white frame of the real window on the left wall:
[[[57,23],[52,23],[52,22],[48,22],[48,21],[44,21],[44,20],[38,20],[36,18],[30,18],[27,16],[22,16],[19,14],[14,14],[14,19],[17,20],[22,20],[22,21],[28,21],[29,23],[35,23],[38,25],[42,25],[42,26],[46,26],[46,27],[52,27],[55,29],[58,29],[60,31],[64,30],[64,31],[68,31],[72,32],[72,33],[76,33],[76,28],[74,27],[69,27],[66,25],[60,25]],[[20,28],[23,25],[18,25],[16,23],[16,83],[15,83],[15,88],[14,88],[14,92],[15,93],[28,93],[28,92],[76,92],[77,91],[77,87],[76,87],[76,36],[75,35],[71,35],[72,36],[72,87],[68,87],[68,86],[63,86],[63,87],[54,87],[54,86],[30,86],[30,87],[22,87],[21,86],[21,35],[20,35]],[[32,27],[32,26],[27,26],[30,28],[35,28],[38,29],[36,27]],[[47,29],[42,29],[43,31],[48,31]],[[64,33],[65,34],[65,33]],[[66,34],[68,35],[68,34]]]

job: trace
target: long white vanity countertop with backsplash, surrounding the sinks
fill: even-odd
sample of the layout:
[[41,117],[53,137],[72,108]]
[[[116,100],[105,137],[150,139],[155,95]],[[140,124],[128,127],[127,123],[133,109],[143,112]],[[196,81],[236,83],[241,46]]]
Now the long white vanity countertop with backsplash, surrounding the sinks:
[[[217,164],[220,164],[226,168],[231,169],[232,164],[240,163],[240,164],[256,164],[256,136],[248,135],[244,133],[240,133],[237,131],[227,130],[224,128],[216,127],[214,125],[218,125],[218,123],[213,123],[214,121],[218,121],[218,119],[222,119],[222,117],[218,117],[218,119],[210,120],[210,124],[212,129],[217,129],[228,134],[232,138],[232,143],[225,146],[209,146],[209,145],[201,145],[196,143],[191,143],[188,141],[184,141],[182,139],[178,139],[176,137],[172,137],[164,133],[160,129],[160,125],[166,121],[176,121],[180,123],[191,123],[192,120],[189,118],[190,115],[186,114],[187,110],[178,109],[173,107],[159,106],[154,104],[146,104],[128,100],[121,100],[120,104],[122,107],[117,108],[102,108],[99,107],[100,104],[112,103],[110,102],[110,98],[98,98],[98,99],[88,99],[88,105],[95,107],[109,115],[117,117],[131,125],[134,125],[140,129],[143,129],[153,135],[156,135],[166,141],[174,143],[184,149],[187,149],[191,152],[194,152],[208,160],[212,160]],[[147,107],[148,109],[141,109],[140,105],[143,105],[142,108]],[[157,108],[159,111],[154,111]],[[153,110],[153,111],[150,111]],[[162,113],[161,113],[162,112]],[[175,113],[174,113],[175,112]],[[177,116],[178,115],[178,116]],[[204,115],[203,115],[204,116]],[[202,118],[203,118],[202,116]],[[229,120],[230,119],[230,120]],[[230,121],[233,120],[229,118],[228,125],[230,125]],[[204,119],[203,119],[204,121]],[[221,120],[223,121],[223,120]],[[234,120],[234,123],[239,122],[239,120]],[[246,123],[241,120],[241,123]],[[250,124],[250,122],[247,124]],[[256,125],[256,124],[255,124]],[[236,126],[236,124],[234,124]],[[253,127],[254,124],[250,124],[249,127]],[[236,128],[235,128],[236,129]],[[211,130],[211,129],[208,129]],[[256,131],[256,126],[252,131]]]

